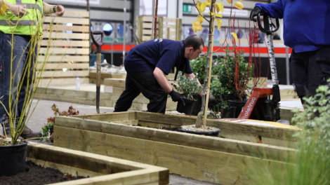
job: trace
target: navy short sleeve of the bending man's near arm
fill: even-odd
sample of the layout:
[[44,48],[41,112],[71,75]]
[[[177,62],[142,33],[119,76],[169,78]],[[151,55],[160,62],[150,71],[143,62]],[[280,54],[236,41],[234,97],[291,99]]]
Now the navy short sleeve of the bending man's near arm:
[[169,75],[169,72],[175,66],[177,60],[178,53],[174,52],[173,50],[166,50],[163,55],[161,55],[161,58],[156,67],[161,69],[164,74]]

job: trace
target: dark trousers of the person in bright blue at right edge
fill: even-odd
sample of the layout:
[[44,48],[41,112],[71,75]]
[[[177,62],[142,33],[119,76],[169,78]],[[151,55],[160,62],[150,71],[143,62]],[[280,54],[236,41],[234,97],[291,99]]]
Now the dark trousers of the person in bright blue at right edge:
[[330,78],[330,46],[301,53],[292,50],[290,60],[293,83],[301,99],[316,95],[319,85],[329,85],[326,81]]

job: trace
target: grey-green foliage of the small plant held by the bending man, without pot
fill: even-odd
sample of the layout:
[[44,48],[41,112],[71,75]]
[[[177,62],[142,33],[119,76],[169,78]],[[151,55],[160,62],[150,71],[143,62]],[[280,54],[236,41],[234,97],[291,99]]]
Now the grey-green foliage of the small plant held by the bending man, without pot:
[[198,84],[197,78],[190,79],[183,75],[178,76],[178,86],[174,87],[188,100],[194,100],[193,95],[202,92],[202,86]]

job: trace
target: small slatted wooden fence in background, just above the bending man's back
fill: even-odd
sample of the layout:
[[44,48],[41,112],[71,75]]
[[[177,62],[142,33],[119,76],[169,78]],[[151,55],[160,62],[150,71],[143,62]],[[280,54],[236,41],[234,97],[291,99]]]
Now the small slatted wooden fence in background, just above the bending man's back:
[[[152,17],[138,16],[138,39],[140,42],[152,39]],[[169,31],[169,34],[168,34]],[[157,39],[181,40],[182,20],[157,18]]]

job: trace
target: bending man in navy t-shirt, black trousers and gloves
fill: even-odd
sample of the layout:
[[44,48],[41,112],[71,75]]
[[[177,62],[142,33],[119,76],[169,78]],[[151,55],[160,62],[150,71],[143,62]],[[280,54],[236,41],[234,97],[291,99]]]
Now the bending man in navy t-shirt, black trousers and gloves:
[[187,78],[194,78],[190,60],[197,58],[203,49],[204,41],[197,35],[188,36],[184,41],[154,39],[132,48],[124,61],[127,71],[125,90],[114,111],[127,111],[140,93],[150,100],[147,105],[150,112],[164,114],[168,94],[174,102],[183,101],[169,85],[166,75],[176,67],[177,74],[183,71]]

